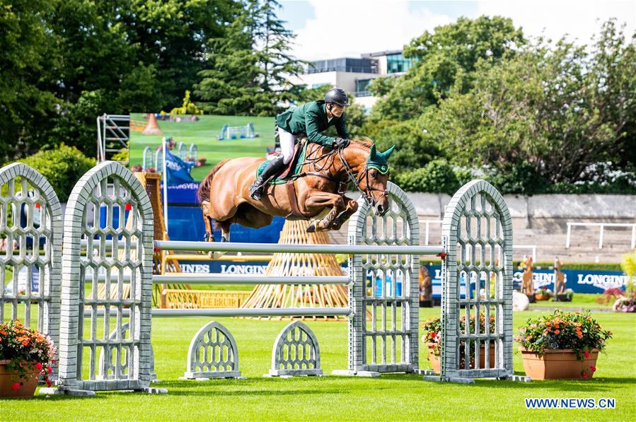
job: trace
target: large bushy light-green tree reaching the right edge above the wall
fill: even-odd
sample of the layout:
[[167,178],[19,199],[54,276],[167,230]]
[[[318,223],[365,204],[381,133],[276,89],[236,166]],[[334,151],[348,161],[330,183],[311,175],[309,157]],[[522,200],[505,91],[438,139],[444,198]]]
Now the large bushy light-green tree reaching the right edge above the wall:
[[608,165],[620,167],[633,139],[636,61],[613,23],[593,53],[539,40],[499,66],[480,61],[473,79],[468,93],[451,89],[426,122],[454,163],[516,174],[526,187],[533,179],[603,182]]

